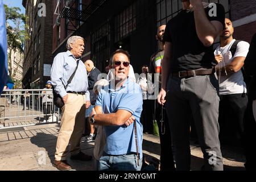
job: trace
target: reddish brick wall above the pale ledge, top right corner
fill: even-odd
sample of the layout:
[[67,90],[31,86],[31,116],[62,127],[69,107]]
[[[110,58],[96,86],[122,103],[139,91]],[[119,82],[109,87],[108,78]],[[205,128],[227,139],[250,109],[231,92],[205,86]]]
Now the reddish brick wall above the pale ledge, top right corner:
[[232,0],[230,6],[232,21],[256,14],[255,0]]

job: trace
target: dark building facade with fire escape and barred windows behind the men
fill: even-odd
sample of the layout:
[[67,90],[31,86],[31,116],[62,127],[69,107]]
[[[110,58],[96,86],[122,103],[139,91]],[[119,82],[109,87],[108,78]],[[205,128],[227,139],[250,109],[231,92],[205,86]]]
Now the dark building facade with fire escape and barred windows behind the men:
[[[225,7],[226,18],[234,21],[234,38],[250,42],[256,27],[255,1],[205,0]],[[157,27],[181,10],[180,0],[54,0],[52,55],[66,51],[65,44],[72,35],[87,41],[82,60],[92,59],[104,71],[110,53],[123,48],[131,55],[135,72],[143,64],[150,64],[150,56],[157,51]],[[68,10],[67,10],[68,9]],[[71,10],[72,9],[72,10]],[[218,39],[216,40],[216,46]]]

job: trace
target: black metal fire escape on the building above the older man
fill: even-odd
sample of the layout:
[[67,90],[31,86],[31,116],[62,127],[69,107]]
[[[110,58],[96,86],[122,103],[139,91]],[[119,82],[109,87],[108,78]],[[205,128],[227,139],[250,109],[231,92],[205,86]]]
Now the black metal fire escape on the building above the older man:
[[81,22],[86,22],[106,1],[108,0],[57,0],[55,14],[58,15],[57,19],[64,18],[72,24],[73,28],[68,28],[69,31],[77,31]]

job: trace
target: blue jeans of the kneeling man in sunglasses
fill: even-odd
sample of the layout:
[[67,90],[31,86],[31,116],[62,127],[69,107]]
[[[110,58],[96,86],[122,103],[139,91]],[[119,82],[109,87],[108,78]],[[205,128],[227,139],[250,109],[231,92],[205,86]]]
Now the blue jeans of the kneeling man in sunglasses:
[[133,152],[123,155],[109,155],[104,152],[100,158],[99,171],[141,171],[142,159],[137,164],[137,155]]

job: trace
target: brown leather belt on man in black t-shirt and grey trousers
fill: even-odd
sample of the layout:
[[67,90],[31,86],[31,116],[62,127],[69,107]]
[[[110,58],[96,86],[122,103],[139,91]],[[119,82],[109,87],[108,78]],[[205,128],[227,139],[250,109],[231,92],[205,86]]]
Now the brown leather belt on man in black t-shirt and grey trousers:
[[187,77],[194,77],[199,75],[212,75],[213,73],[215,73],[215,68],[172,72],[171,76],[178,77],[178,78],[187,78]]

